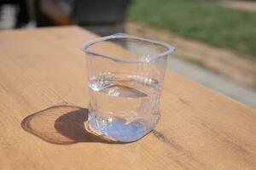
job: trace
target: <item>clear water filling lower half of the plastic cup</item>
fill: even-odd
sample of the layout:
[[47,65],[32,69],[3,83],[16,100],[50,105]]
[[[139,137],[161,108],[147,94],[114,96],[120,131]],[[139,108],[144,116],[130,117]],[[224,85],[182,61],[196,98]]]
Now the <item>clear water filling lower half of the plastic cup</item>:
[[140,75],[102,73],[89,80],[90,127],[130,142],[150,132],[159,119],[160,82]]

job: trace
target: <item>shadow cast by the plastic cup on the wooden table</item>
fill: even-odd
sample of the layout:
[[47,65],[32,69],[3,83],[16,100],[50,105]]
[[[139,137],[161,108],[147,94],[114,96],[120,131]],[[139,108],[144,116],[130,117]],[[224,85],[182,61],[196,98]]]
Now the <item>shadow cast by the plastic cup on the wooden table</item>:
[[26,116],[21,127],[52,144],[97,142],[124,144],[91,133],[87,126],[88,110],[74,105],[55,105]]

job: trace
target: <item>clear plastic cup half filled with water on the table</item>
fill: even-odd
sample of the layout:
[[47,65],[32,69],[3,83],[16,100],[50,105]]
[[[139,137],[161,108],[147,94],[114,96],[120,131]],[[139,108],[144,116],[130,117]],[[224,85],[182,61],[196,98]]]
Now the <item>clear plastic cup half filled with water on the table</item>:
[[90,130],[121,142],[149,133],[160,117],[166,59],[174,48],[126,34],[85,42]]

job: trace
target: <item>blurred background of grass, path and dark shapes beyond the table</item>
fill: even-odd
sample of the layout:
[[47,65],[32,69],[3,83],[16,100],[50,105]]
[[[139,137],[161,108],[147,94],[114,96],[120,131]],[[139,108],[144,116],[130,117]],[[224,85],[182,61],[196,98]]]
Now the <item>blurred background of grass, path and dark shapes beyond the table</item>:
[[171,43],[168,68],[256,108],[256,1],[0,0],[0,30],[68,25]]

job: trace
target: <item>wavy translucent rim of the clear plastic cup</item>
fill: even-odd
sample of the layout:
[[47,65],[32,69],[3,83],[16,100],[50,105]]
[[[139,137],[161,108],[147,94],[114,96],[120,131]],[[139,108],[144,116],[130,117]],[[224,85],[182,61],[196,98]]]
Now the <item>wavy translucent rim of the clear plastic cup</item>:
[[[97,42],[103,42],[103,41],[107,41],[107,40],[111,40],[111,39],[119,39],[119,38],[127,38],[127,39],[142,41],[142,42],[150,42],[150,43],[160,45],[160,46],[166,48],[166,51],[163,52],[163,53],[160,53],[160,54],[156,54],[156,55],[150,57],[149,59],[145,60],[143,58],[140,58],[140,59],[119,59],[117,57],[110,56],[108,54],[98,54],[98,53],[90,51],[88,49],[91,45],[93,45]],[[92,54],[92,55],[100,56],[100,57],[107,58],[107,59],[112,59],[112,60],[118,61],[118,62],[125,62],[125,63],[141,63],[141,62],[144,63],[145,61],[150,62],[152,60],[159,59],[160,57],[172,54],[175,51],[175,48],[172,47],[172,45],[167,44],[165,42],[157,42],[157,41],[150,40],[150,39],[147,39],[147,38],[131,36],[131,35],[125,34],[125,33],[117,33],[117,34],[113,34],[111,36],[100,37],[100,38],[96,38],[94,40],[89,40],[87,42],[84,42],[81,49],[82,49],[82,51],[85,52],[85,54]]]

